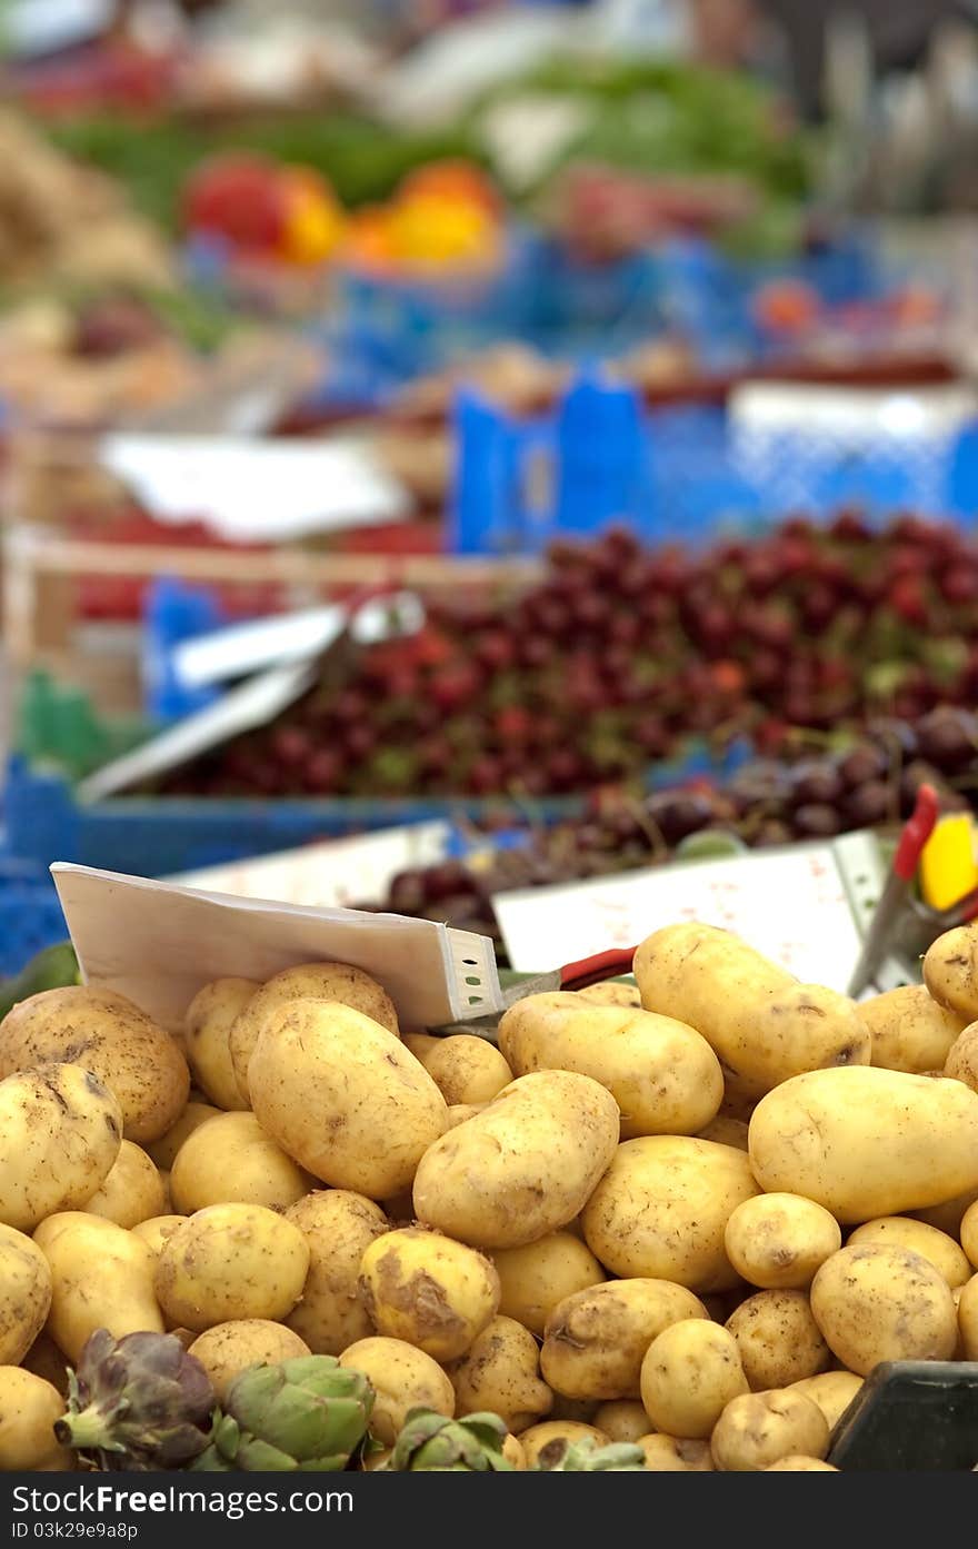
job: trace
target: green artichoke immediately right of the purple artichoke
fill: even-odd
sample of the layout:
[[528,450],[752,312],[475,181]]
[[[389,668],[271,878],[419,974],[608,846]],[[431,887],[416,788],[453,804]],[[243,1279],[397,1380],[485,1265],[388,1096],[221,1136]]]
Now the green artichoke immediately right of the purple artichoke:
[[192,1468],[339,1473],[364,1444],[374,1391],[334,1355],[299,1355],[240,1372]]

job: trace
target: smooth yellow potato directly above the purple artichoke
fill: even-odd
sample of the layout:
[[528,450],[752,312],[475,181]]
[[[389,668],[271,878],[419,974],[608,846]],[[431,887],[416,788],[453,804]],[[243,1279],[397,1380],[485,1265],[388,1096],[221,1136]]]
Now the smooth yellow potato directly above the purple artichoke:
[[34,1236],[51,1270],[48,1334],[77,1363],[96,1329],[162,1334],[152,1250],[125,1227],[80,1210],[48,1216]]

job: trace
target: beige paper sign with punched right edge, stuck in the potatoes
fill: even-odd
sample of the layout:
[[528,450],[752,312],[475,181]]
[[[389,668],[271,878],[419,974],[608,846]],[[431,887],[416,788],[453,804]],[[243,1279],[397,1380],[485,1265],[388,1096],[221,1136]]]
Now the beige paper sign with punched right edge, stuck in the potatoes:
[[407,1029],[503,1008],[492,942],[433,920],[231,898],[63,861],[51,874],[84,982],[172,1030],[212,979],[263,981],[306,962],[362,968]]

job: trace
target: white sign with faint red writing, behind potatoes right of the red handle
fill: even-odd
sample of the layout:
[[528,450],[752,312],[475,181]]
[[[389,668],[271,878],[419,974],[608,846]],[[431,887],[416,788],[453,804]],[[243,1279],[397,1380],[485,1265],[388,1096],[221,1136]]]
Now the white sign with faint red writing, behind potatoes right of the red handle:
[[521,973],[703,920],[741,936],[803,984],[845,993],[862,946],[831,846],[658,866],[492,902],[509,962]]

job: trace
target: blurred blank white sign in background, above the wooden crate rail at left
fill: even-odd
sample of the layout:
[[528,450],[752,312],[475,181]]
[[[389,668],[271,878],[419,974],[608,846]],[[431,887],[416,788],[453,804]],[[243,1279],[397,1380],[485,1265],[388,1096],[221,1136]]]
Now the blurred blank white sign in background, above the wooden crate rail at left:
[[354,440],[107,435],[99,462],[159,522],[197,517],[231,542],[396,522],[412,500]]

